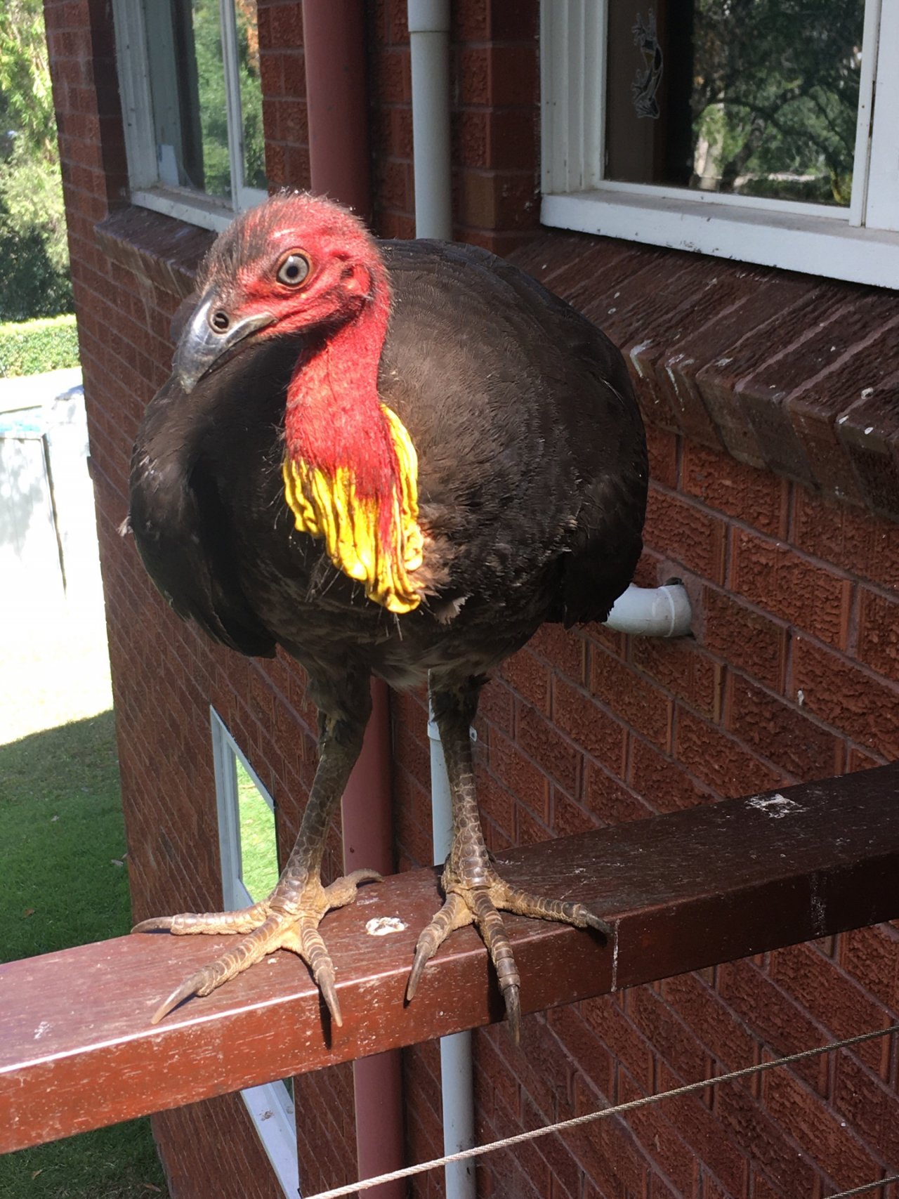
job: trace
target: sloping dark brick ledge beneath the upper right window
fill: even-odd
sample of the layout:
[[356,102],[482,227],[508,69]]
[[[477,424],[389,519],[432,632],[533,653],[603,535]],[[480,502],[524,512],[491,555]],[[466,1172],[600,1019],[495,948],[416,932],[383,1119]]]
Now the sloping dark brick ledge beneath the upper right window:
[[621,348],[647,422],[899,520],[899,293],[559,231],[509,257]]

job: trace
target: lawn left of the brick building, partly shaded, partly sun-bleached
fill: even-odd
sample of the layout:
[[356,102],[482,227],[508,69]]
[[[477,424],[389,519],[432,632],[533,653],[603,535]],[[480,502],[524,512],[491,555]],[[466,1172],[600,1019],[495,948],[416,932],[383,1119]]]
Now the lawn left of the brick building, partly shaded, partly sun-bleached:
[[[67,620],[17,625],[0,657],[4,962],[131,923],[105,640]],[[0,1157],[0,1199],[167,1194],[149,1120]]]

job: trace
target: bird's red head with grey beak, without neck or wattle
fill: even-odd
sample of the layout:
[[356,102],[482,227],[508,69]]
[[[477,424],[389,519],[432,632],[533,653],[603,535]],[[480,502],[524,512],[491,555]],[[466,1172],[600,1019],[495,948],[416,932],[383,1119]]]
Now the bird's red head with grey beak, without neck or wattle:
[[185,391],[249,342],[330,333],[367,308],[387,323],[378,247],[345,209],[307,193],[273,195],[219,235],[198,279],[201,299],[175,351]]

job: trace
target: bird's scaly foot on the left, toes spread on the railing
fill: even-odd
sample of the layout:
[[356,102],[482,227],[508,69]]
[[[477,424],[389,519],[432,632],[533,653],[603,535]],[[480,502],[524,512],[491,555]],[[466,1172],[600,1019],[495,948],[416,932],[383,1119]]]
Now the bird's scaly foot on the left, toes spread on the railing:
[[260,903],[241,911],[183,912],[180,916],[157,916],[135,924],[133,933],[168,930],[177,936],[198,933],[243,934],[221,958],[203,966],[186,978],[165,999],[152,1016],[152,1024],[192,995],[209,995],[216,987],[234,978],[276,950],[297,953],[312,971],[334,1024],[342,1024],[340,1005],[334,988],[334,966],[319,933],[319,923],[332,908],[343,908],[356,898],[361,882],[380,882],[376,870],[354,870],[324,887],[312,878],[296,899],[289,903],[279,893],[280,886]]

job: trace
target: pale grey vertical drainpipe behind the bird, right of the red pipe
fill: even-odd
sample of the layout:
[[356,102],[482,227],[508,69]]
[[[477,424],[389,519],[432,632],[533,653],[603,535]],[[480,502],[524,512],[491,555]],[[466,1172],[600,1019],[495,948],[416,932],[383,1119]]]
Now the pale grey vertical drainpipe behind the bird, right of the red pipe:
[[[453,235],[450,150],[450,0],[408,0],[412,60],[415,233],[451,241]],[[452,803],[440,733],[428,722],[434,861],[442,864],[452,842]],[[475,1144],[471,1032],[440,1038],[444,1153]],[[446,1199],[475,1199],[471,1162],[446,1167]]]

